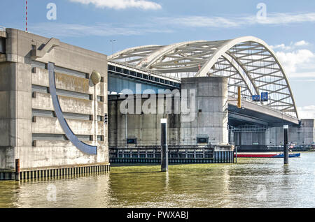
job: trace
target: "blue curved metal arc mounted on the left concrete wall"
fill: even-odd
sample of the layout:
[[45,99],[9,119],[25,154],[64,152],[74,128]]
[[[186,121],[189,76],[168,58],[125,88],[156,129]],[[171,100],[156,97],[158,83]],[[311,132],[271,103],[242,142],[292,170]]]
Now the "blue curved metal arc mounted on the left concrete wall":
[[60,108],[59,100],[57,97],[56,83],[55,83],[55,64],[49,62],[48,63],[48,73],[49,73],[49,89],[50,95],[52,97],[52,104],[55,108],[56,116],[59,120],[59,124],[62,126],[66,137],[72,142],[76,148],[82,151],[85,154],[97,155],[97,147],[90,146],[85,144],[84,142],[78,140],[76,135],[71,131],[66,119],[64,119],[64,115],[62,114],[62,110]]

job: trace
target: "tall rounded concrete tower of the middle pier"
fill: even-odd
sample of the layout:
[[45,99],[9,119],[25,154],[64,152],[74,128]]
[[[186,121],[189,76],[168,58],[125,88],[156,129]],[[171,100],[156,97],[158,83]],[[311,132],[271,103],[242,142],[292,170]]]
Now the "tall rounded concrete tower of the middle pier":
[[228,144],[228,78],[183,78],[181,89],[196,91],[196,106],[193,110],[196,118],[184,122],[181,115],[183,144],[196,144],[198,137],[208,137],[214,145]]

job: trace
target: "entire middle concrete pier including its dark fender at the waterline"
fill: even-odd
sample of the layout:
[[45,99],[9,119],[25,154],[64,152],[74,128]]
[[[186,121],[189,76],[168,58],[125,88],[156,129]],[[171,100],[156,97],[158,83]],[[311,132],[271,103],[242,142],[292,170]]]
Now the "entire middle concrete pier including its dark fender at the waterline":
[[[161,163],[160,119],[167,119],[169,163],[233,163],[234,147],[228,144],[227,78],[183,78],[181,91],[128,98],[134,98],[130,100],[133,110],[144,109],[148,101],[152,110],[128,112],[126,117],[121,112],[125,97],[109,96],[111,163]],[[209,149],[211,156],[204,154]]]

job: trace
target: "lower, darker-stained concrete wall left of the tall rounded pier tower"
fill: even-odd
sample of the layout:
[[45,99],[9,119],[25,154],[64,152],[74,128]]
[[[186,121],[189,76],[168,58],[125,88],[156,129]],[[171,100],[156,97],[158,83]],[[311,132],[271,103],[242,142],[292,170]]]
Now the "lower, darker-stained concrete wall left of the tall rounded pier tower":
[[[116,96],[114,96],[116,97]],[[138,99],[144,105],[145,99]],[[174,98],[173,98],[174,101]],[[109,101],[109,146],[126,146],[127,138],[137,138],[137,145],[153,146],[160,145],[160,119],[168,119],[168,138],[170,145],[179,142],[180,116],[179,114],[125,114],[120,112],[122,100]],[[136,102],[135,102],[136,103]],[[139,102],[138,102],[139,104]],[[155,107],[158,107],[158,101]],[[127,125],[126,125],[127,120]],[[133,145],[130,145],[133,146]]]

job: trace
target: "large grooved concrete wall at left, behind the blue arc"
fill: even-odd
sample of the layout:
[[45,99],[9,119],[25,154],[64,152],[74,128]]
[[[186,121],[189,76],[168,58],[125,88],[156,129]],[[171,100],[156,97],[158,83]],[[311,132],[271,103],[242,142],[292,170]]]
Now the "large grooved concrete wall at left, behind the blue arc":
[[[98,117],[104,117],[107,112],[106,55],[59,43],[43,53],[43,57],[34,57],[31,50],[43,49],[48,40],[25,31],[6,29],[6,54],[0,54],[2,169],[14,169],[15,158],[20,158],[22,169],[109,162],[107,126],[103,121],[98,121]],[[91,116],[88,120],[74,117],[66,121],[76,135],[91,136],[90,141],[84,142],[97,146],[97,155],[83,154],[68,140],[34,142],[32,139],[36,134],[45,135],[46,138],[64,134],[56,117],[32,118],[32,110],[54,111],[49,94],[48,70],[45,69],[48,62],[55,63],[62,70],[55,73],[57,90],[69,92],[69,95],[58,96],[62,112]],[[94,70],[101,73],[104,81],[91,86],[88,77]],[[83,75],[76,76],[76,73]],[[34,93],[34,86],[48,90]],[[71,94],[90,95],[90,99]],[[97,100],[99,96],[103,101]],[[100,135],[104,141],[97,140]]]

